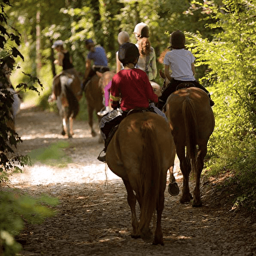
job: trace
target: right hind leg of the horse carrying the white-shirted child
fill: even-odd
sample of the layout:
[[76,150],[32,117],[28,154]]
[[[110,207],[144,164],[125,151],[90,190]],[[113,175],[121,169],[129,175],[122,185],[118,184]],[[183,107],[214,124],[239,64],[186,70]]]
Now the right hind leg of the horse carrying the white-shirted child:
[[195,189],[194,189],[194,198],[193,198],[193,206],[200,207],[202,206],[202,201],[200,199],[200,176],[202,172],[202,168],[204,168],[204,157],[207,153],[207,144],[206,146],[199,147],[199,154],[198,154],[198,167],[196,173],[196,182],[195,182]]

